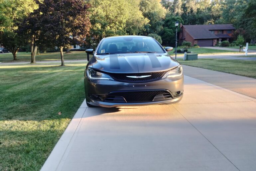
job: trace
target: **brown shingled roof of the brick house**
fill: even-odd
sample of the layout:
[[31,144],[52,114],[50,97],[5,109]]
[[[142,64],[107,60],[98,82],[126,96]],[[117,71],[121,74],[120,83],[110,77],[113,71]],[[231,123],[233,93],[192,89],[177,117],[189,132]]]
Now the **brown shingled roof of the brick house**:
[[209,30],[235,30],[232,24],[211,24],[211,25],[183,25],[194,39],[217,39],[218,36]]

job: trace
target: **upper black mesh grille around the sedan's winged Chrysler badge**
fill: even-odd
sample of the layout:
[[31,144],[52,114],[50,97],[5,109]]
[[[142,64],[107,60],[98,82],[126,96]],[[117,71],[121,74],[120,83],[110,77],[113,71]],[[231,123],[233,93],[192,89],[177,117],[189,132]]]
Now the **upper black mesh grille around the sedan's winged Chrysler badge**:
[[[167,71],[148,72],[148,73],[108,73],[112,78],[122,82],[148,82],[161,79]],[[127,76],[144,76],[151,75],[145,78],[130,78]]]

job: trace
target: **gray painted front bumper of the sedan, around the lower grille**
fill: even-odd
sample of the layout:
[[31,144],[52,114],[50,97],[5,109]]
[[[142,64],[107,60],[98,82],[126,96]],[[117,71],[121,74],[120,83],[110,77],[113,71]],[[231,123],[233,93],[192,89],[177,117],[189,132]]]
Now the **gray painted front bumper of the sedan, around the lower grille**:
[[[85,97],[86,101],[94,106],[100,107],[118,107],[118,106],[144,106],[144,105],[164,105],[179,102],[183,97],[183,82],[184,76],[178,76],[174,78],[165,78],[153,82],[146,83],[127,83],[113,80],[91,80],[85,75],[84,86],[85,86]],[[145,91],[145,90],[166,90],[173,96],[172,99],[152,102],[136,102],[136,103],[118,103],[118,102],[104,102],[89,97],[89,94],[96,94],[99,96],[106,96],[110,92],[118,91]],[[175,97],[175,92],[180,91],[181,94]]]

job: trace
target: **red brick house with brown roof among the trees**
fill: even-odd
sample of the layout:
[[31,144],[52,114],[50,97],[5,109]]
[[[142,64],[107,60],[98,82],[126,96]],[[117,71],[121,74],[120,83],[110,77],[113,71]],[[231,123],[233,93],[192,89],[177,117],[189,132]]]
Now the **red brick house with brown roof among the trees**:
[[214,46],[217,41],[231,41],[235,28],[232,24],[182,25],[179,42],[191,42],[192,45]]

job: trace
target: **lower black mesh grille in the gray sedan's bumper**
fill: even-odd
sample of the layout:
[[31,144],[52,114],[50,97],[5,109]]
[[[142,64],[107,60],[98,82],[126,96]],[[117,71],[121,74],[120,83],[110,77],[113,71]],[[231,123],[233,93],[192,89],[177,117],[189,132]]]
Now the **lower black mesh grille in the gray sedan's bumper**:
[[[156,98],[155,98],[156,97]],[[166,90],[152,90],[152,91],[123,91],[112,92],[107,95],[105,102],[153,102],[167,100],[172,98],[171,94]]]

